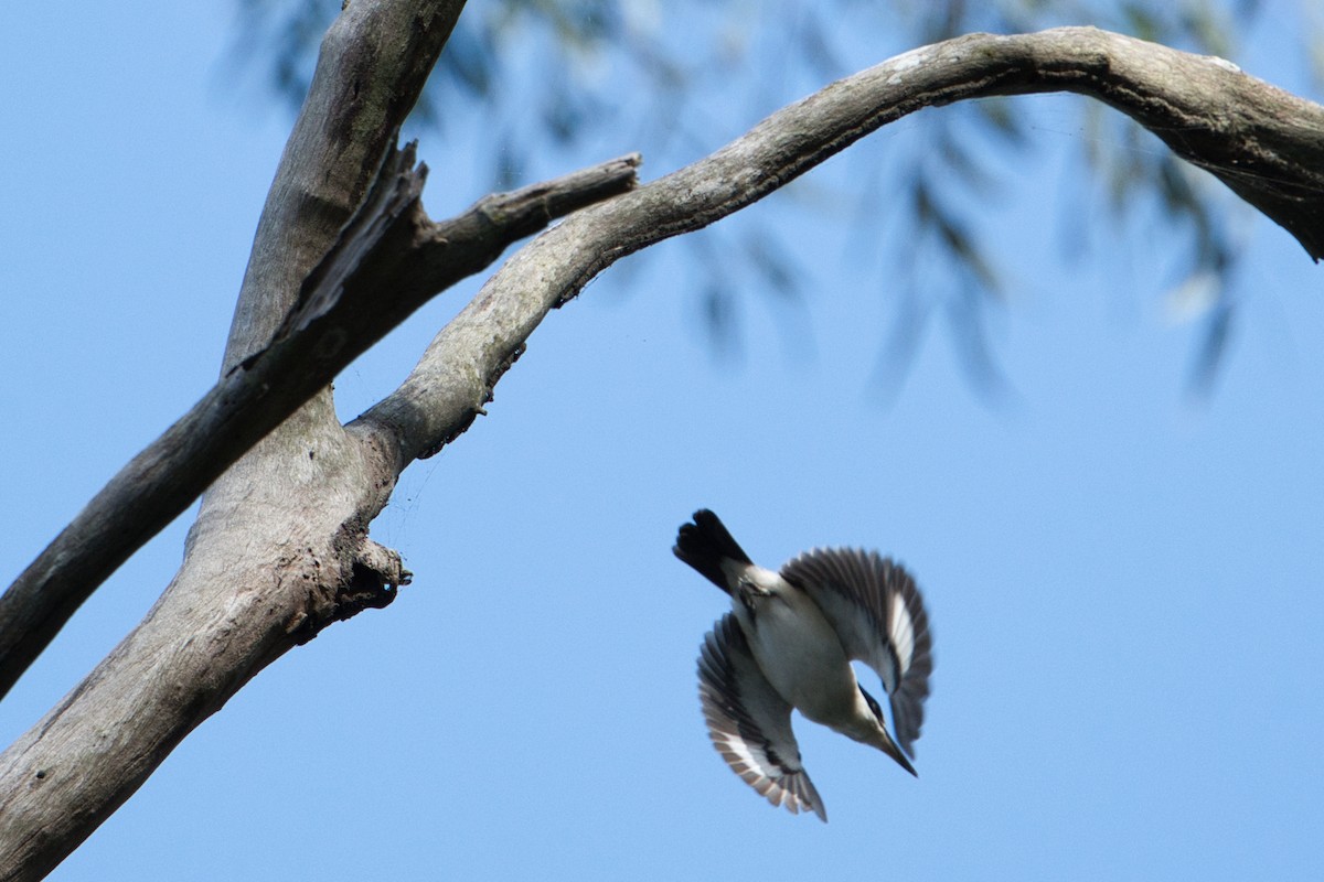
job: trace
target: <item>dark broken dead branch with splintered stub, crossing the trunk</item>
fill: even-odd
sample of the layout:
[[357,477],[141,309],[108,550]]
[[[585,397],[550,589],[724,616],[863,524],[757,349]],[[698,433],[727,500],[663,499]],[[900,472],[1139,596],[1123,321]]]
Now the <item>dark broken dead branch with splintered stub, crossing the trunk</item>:
[[230,368],[135,456],[0,596],[0,696],[120,563],[351,361],[511,242],[634,182],[638,157],[489,196],[428,220],[425,167],[389,148],[339,242],[306,278],[274,340]]

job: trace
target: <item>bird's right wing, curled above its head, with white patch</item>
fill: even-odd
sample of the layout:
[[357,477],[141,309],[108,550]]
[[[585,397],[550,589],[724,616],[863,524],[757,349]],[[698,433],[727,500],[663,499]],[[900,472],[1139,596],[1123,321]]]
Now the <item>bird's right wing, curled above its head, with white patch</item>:
[[896,743],[915,756],[933,673],[933,639],[915,579],[876,551],[814,549],[781,567],[841,637],[846,655],[882,678],[891,700]]

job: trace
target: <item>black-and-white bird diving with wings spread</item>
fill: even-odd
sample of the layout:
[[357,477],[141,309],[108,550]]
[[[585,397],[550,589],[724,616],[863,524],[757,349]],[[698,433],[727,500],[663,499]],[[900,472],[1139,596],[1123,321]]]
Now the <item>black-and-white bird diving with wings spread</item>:
[[[707,509],[671,549],[731,596],[703,639],[699,698],[708,737],[731,770],[773,805],[828,813],[800,763],[790,710],[871,744],[915,775],[933,640],[915,581],[876,551],[814,549],[780,573],[756,566]],[[882,678],[883,710],[855,680],[863,661]]]

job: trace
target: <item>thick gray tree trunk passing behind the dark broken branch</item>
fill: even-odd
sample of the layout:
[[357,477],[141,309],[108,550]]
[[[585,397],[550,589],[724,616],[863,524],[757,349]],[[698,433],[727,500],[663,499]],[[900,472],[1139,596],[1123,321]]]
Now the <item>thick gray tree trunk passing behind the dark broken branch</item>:
[[[262,210],[222,372],[271,340],[462,7],[356,0],[328,30]],[[326,390],[216,481],[143,623],[0,756],[0,878],[44,877],[257,670],[351,607],[389,599],[399,557],[365,534],[393,465],[340,427]]]

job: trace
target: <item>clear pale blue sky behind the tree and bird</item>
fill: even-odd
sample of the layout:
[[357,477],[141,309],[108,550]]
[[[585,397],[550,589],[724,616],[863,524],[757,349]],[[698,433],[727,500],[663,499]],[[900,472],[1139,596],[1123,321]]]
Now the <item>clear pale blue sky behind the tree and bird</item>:
[[[1311,94],[1268,5],[1241,62]],[[228,25],[75,3],[17,7],[0,30],[7,577],[216,376],[287,131],[225,62]],[[169,37],[144,50],[143,28]],[[686,250],[657,249],[552,315],[490,417],[405,475],[373,536],[414,584],[257,677],[52,878],[1324,874],[1319,270],[1247,227],[1235,336],[1193,403],[1200,325],[1161,298],[1173,246],[1139,225],[1063,259],[1084,135],[1074,99],[1026,100],[1038,149],[989,209],[1006,399],[972,391],[935,327],[884,401],[878,255],[786,210],[794,194],[737,223],[821,262],[806,308],[741,292],[737,357],[700,332]],[[730,108],[710,147],[760,114]],[[639,147],[609,140],[579,164]],[[478,165],[448,149],[422,134],[434,169]],[[446,184],[425,193],[438,217],[483,190]],[[351,366],[342,414],[387,394],[471,291]],[[937,657],[918,780],[802,721],[829,825],[724,768],[695,684],[724,598],[670,554],[699,506],[767,565],[862,545],[916,574]],[[142,618],[185,528],[0,706],[5,743]]]

